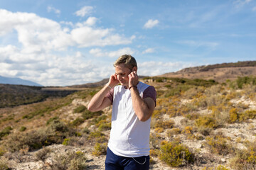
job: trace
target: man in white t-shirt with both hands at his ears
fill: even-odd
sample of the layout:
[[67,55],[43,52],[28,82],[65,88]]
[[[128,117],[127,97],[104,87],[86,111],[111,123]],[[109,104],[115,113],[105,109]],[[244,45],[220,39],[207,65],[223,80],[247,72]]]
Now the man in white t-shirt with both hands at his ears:
[[139,81],[137,62],[131,55],[119,57],[114,69],[115,74],[88,104],[89,111],[112,104],[105,169],[149,169],[149,131],[156,90]]

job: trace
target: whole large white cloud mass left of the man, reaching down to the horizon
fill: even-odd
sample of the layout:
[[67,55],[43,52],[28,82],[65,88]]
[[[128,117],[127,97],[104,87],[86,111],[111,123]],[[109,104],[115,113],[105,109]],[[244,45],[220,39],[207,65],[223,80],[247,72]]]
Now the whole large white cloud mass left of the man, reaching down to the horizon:
[[[109,77],[114,72],[111,59],[91,60],[92,55],[118,57],[122,52],[133,51],[122,48],[100,54],[97,47],[126,45],[136,37],[127,38],[114,29],[97,28],[96,22],[97,18],[89,17],[78,26],[64,21],[58,23],[35,13],[0,9],[0,38],[11,35],[18,40],[15,45],[0,46],[0,75],[28,79],[44,86],[84,84]],[[68,50],[69,47],[72,50]],[[96,50],[90,50],[86,56],[78,47]]]

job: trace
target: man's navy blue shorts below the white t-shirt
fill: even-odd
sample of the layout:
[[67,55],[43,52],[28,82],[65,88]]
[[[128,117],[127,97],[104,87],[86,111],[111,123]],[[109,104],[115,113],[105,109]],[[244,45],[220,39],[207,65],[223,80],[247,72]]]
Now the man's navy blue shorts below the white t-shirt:
[[149,156],[119,157],[107,147],[105,170],[149,170]]

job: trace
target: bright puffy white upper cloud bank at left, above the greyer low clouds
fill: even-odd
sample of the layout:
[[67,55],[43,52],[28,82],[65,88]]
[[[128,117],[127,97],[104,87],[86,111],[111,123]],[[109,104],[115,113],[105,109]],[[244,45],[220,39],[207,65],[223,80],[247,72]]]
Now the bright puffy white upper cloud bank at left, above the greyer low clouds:
[[[23,52],[43,52],[65,50],[67,47],[105,46],[129,44],[135,38],[114,33],[109,28],[92,28],[97,18],[89,17],[78,28],[62,28],[60,23],[41,18],[34,13],[12,13],[0,10],[0,36],[16,30],[18,41],[23,45]],[[7,19],[8,18],[8,19]],[[61,22],[65,23],[65,22]],[[72,26],[72,23],[65,23]]]

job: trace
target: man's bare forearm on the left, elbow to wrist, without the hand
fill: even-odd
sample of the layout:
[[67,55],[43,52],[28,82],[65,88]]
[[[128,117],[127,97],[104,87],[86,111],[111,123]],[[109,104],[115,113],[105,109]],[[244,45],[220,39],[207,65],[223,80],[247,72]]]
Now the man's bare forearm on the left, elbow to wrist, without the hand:
[[109,91],[110,86],[105,85],[99,92],[97,92],[97,94],[92,97],[90,103],[88,104],[88,110],[97,111],[98,108],[100,108],[100,106],[102,105],[103,100]]

